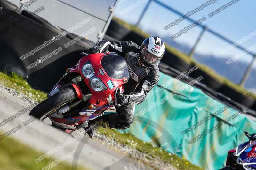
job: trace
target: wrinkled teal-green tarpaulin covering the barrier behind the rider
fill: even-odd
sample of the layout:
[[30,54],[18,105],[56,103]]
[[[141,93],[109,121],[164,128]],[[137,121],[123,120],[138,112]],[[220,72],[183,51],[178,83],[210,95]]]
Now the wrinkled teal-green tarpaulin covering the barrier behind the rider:
[[243,112],[214,100],[198,88],[164,73],[160,73],[158,85],[166,89],[155,86],[144,102],[135,107],[131,127],[120,132],[130,132],[197,166],[216,170],[225,166],[228,150],[247,141],[243,130],[256,132],[256,123]]

